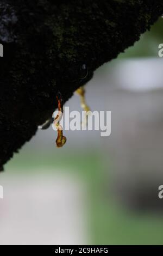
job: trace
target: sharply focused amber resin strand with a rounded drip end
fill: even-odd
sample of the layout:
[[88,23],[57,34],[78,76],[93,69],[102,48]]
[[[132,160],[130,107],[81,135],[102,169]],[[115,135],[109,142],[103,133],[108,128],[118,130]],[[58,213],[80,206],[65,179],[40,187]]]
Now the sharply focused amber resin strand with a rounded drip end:
[[54,119],[54,125],[58,132],[58,137],[56,139],[57,148],[61,148],[65,145],[67,139],[65,136],[63,136],[63,129],[62,129],[62,126],[60,125],[60,120],[62,119],[62,115],[64,113],[64,109],[62,105],[62,97],[60,94],[59,96],[57,96],[57,101],[58,101],[58,114],[57,114],[57,117]]

